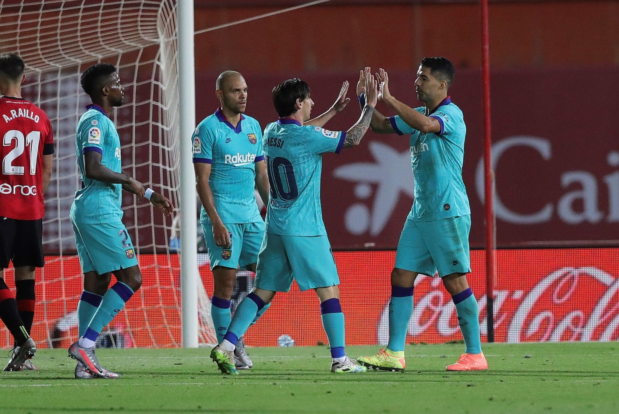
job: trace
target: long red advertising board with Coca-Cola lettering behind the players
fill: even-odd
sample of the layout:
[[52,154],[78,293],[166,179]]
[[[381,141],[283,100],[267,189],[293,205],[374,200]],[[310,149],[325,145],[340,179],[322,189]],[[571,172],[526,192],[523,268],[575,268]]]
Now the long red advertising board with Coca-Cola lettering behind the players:
[[[469,283],[480,305],[486,339],[484,251],[472,251]],[[346,341],[350,345],[386,343],[389,274],[394,251],[335,252],[340,274]],[[619,249],[517,249],[498,251],[495,285],[495,340],[619,340]],[[112,322],[123,346],[177,347],[181,343],[178,256],[139,256],[144,283]],[[212,294],[208,265],[200,266],[206,292]],[[43,279],[41,281],[41,277]],[[77,337],[74,311],[82,290],[76,257],[48,257],[38,275],[37,311],[32,336],[39,347],[68,347]],[[6,280],[12,285],[11,271]],[[209,310],[203,303],[202,310]],[[280,335],[297,345],[327,343],[319,301],[313,291],[275,296],[271,308],[246,334],[251,346],[276,346]],[[0,330],[0,347],[12,344]],[[54,340],[55,338],[55,340]],[[420,276],[408,342],[442,343],[461,339],[456,311],[438,278]]]

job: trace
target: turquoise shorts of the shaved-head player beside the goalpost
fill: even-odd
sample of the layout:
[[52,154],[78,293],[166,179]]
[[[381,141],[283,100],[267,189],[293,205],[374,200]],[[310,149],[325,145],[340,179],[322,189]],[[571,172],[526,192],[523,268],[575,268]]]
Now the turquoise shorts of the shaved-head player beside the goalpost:
[[226,224],[225,226],[228,232],[232,233],[232,246],[229,249],[217,246],[213,236],[213,225],[210,222],[202,222],[204,241],[209,250],[210,270],[213,270],[215,266],[245,269],[248,264],[256,263],[264,237],[264,222]]

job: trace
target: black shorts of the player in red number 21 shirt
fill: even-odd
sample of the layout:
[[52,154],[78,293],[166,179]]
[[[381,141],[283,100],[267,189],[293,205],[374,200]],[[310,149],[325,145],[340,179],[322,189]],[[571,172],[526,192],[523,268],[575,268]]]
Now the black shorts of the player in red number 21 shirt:
[[0,216],[0,269],[43,267],[43,219],[15,220]]

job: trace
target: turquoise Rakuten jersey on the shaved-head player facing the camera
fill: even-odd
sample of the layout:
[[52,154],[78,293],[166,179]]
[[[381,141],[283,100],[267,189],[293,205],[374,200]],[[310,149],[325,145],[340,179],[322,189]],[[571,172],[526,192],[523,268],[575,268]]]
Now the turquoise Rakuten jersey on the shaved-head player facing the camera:
[[[241,115],[235,128],[218,109],[198,124],[193,134],[193,162],[211,165],[210,189],[223,223],[262,220],[254,192],[255,163],[262,160],[262,131],[251,116]],[[201,221],[210,223],[204,206]]]

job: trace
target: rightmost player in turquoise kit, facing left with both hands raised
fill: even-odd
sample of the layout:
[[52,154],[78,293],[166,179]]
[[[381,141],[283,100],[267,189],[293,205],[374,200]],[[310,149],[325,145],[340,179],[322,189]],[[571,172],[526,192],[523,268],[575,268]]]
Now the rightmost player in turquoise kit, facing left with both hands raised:
[[[369,74],[361,71],[359,83]],[[438,275],[456,305],[465,353],[448,371],[488,369],[479,335],[477,300],[467,283],[470,272],[469,198],[462,181],[466,126],[462,111],[447,91],[454,67],[446,58],[424,58],[417,71],[415,91],[424,106],[410,108],[389,93],[389,76],[380,69],[379,100],[397,115],[374,111],[371,129],[379,134],[410,134],[410,158],[415,178],[415,200],[397,245],[391,272],[389,344],[360,364],[374,369],[404,371],[404,342],[413,311],[417,275]],[[363,89],[357,88],[363,101]]]

